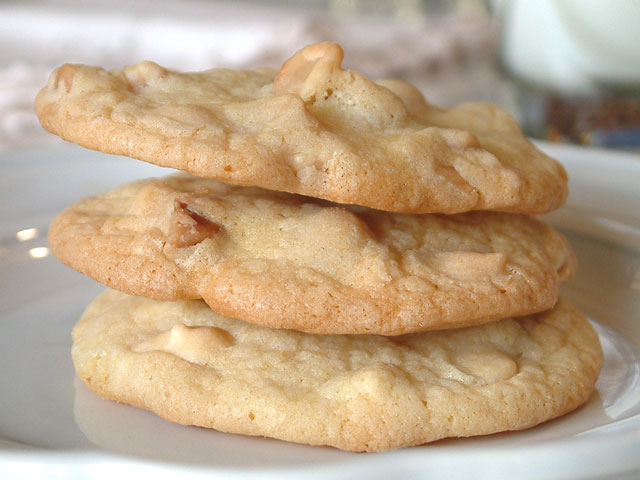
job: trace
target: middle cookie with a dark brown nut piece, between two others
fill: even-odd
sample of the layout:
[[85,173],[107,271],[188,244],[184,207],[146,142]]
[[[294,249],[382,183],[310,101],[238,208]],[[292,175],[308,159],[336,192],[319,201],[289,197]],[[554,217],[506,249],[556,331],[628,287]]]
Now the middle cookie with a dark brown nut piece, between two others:
[[182,174],[121,186],[51,224],[62,262],[112,288],[312,333],[398,335],[551,308],[576,267],[523,215],[408,215]]

